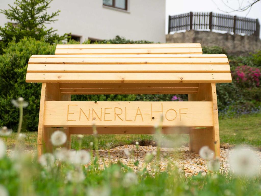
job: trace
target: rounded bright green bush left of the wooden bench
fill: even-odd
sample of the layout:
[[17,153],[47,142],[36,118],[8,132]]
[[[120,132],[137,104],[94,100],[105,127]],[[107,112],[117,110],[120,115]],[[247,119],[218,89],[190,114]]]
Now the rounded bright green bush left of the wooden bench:
[[0,55],[0,126],[16,130],[18,109],[11,104],[12,99],[24,97],[29,102],[25,108],[23,129],[37,130],[40,83],[26,83],[27,62],[32,54],[54,54],[55,45],[33,38],[24,38],[18,43],[15,40]]

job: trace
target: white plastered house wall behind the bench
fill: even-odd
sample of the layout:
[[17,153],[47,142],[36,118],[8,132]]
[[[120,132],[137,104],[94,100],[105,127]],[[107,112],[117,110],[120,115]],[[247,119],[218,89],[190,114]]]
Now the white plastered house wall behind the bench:
[[[13,0],[1,0],[0,8],[7,9]],[[116,35],[127,39],[165,42],[165,0],[129,0],[128,11],[103,7],[102,0],[54,0],[49,12],[61,10],[58,21],[51,26],[58,34],[80,35],[110,39]],[[7,19],[0,14],[0,25]]]

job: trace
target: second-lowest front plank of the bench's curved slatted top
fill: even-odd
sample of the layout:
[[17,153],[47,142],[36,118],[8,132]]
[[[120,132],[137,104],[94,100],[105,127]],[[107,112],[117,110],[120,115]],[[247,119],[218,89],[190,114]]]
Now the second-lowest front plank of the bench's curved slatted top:
[[74,73],[230,73],[229,65],[53,65],[28,64],[27,73],[74,72]]

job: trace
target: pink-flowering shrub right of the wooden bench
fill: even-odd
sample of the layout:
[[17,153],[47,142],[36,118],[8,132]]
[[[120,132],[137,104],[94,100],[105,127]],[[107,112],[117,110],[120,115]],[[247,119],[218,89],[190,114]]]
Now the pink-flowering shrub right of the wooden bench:
[[236,67],[233,77],[241,87],[259,87],[261,79],[260,69],[247,65]]

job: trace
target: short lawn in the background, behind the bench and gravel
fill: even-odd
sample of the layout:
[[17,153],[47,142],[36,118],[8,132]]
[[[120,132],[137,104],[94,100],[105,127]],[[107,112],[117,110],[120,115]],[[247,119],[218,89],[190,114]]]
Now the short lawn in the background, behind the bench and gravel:
[[[229,143],[230,145],[247,144],[255,147],[261,147],[260,133],[261,133],[261,114],[251,114],[240,116],[238,118],[220,119],[220,143],[221,146]],[[27,149],[33,149],[37,143],[37,132],[26,132],[25,145]],[[181,144],[188,143],[188,135],[182,135]],[[16,139],[16,134],[13,133],[11,137],[3,138],[6,141],[8,148],[13,148]],[[153,135],[99,135],[98,148],[105,149],[110,143],[112,147],[125,144],[131,144],[139,141],[141,144],[153,140]],[[85,135],[82,139],[82,148],[90,148],[90,142],[93,142],[93,135]],[[180,142],[179,142],[180,143]],[[72,136],[72,148],[78,147],[77,137]]]

